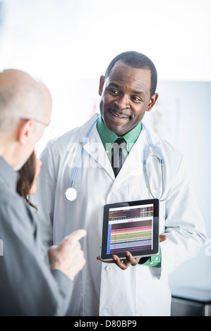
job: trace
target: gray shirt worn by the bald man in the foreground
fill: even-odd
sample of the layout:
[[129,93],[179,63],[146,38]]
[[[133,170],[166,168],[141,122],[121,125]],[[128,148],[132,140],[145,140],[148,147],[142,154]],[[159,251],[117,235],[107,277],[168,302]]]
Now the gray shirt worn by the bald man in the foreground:
[[35,218],[16,193],[17,179],[0,156],[0,316],[65,315],[73,284],[44,263]]

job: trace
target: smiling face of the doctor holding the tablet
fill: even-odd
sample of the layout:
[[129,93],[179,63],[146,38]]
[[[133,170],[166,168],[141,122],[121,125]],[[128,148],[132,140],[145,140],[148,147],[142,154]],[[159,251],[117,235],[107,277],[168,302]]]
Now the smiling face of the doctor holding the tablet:
[[100,77],[100,113],[109,130],[122,136],[143,119],[158,97],[150,96],[150,87],[150,70],[131,68],[121,61],[115,63],[106,80]]

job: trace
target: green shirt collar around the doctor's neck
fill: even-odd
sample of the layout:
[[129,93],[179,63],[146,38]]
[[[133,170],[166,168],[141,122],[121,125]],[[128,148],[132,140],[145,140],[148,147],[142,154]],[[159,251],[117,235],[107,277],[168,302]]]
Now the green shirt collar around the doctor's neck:
[[[142,130],[142,126],[140,123],[138,123],[137,125],[135,125],[135,127],[133,127],[131,131],[127,132],[126,135],[122,136],[123,139],[126,140],[128,152],[131,151],[131,148],[138,139],[141,130]],[[116,133],[112,132],[107,128],[101,116],[97,121],[97,131],[100,135],[100,139],[102,140],[104,149],[106,149],[106,144],[114,144],[115,140],[119,138],[119,136],[116,135]]]

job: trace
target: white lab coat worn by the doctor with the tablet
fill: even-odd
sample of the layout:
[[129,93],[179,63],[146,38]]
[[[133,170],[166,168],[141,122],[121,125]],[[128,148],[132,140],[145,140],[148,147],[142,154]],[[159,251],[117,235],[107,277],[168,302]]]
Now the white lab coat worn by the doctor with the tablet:
[[[121,270],[97,261],[100,255],[102,216],[105,204],[151,199],[143,173],[145,131],[131,149],[119,175],[114,177],[97,127],[84,147],[83,165],[78,170],[78,198],[68,201],[65,192],[83,144],[85,133],[96,115],[82,127],[47,144],[37,182],[37,217],[44,247],[59,244],[78,228],[88,230],[82,241],[86,264],[76,276],[69,314],[73,316],[169,316],[171,293],[168,275],[193,258],[205,242],[203,218],[198,210],[180,151],[150,130],[152,142],[164,156],[164,197],[160,202],[159,233],[168,239],[160,244],[162,267],[130,266]],[[77,155],[76,155],[77,154]],[[147,171],[155,196],[161,194],[161,177],[156,159],[148,158]],[[160,168],[159,168],[160,169]],[[53,238],[53,239],[52,239]],[[53,241],[52,241],[53,240]],[[196,266],[197,268],[197,266]]]

